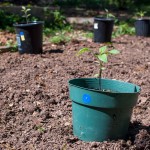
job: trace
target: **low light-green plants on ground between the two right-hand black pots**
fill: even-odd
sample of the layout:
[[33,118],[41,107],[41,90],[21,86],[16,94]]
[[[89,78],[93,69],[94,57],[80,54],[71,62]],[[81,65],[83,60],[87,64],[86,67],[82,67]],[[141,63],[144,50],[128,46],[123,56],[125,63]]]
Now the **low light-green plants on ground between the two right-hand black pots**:
[[115,31],[113,32],[112,36],[113,37],[118,37],[120,35],[125,35],[125,34],[129,34],[129,35],[134,35],[135,34],[135,28],[129,26],[128,23],[126,22],[121,22],[115,29]]

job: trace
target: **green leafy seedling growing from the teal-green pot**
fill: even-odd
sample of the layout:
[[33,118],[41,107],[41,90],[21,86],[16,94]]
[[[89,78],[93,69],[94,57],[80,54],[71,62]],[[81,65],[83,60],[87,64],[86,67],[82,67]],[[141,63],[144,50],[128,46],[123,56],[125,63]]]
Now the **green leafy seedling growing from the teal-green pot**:
[[85,47],[78,51],[77,56],[80,56],[85,52],[90,52],[91,55],[97,59],[96,62],[98,63],[98,74],[96,74],[95,77],[99,79],[99,90],[102,90],[102,71],[105,70],[105,64],[108,63],[108,56],[119,54],[119,51],[116,49],[109,49],[109,47],[105,45],[99,48],[98,53],[94,53],[91,49]]

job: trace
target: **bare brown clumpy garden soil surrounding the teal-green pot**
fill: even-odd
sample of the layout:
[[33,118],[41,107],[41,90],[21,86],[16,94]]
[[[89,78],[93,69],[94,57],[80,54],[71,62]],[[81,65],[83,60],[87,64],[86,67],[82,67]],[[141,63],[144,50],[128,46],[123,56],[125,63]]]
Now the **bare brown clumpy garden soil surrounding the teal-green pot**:
[[120,54],[109,58],[103,78],[141,87],[126,139],[84,142],[73,135],[68,80],[93,77],[97,64],[89,53],[103,44],[72,40],[47,43],[43,54],[0,54],[0,150],[148,150],[150,149],[150,38],[114,38]]

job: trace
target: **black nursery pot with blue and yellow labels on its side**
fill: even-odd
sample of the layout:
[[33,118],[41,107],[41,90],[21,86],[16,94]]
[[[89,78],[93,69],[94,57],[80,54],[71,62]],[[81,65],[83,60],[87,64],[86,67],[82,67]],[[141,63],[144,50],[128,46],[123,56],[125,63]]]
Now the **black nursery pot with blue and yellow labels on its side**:
[[35,21],[22,24],[14,24],[18,50],[20,54],[40,54],[43,43],[43,23]]

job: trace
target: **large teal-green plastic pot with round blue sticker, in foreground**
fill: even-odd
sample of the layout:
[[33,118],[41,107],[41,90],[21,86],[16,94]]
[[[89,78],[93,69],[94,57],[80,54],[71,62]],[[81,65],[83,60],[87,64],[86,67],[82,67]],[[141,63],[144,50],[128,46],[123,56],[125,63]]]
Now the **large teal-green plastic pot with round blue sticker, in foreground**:
[[[126,137],[140,87],[118,80],[78,78],[69,81],[73,134],[83,141]],[[111,91],[111,92],[110,92]]]

